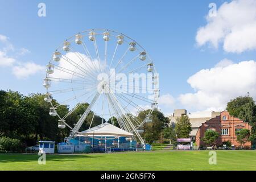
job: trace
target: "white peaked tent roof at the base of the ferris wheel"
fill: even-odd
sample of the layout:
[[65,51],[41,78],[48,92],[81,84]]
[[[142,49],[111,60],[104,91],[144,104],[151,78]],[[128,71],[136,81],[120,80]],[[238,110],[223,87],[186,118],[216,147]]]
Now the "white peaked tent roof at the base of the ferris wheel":
[[85,130],[85,131],[81,131],[79,133],[79,135],[94,135],[94,136],[100,136],[100,135],[104,135],[104,136],[117,136],[117,137],[132,137],[134,136],[133,134],[119,129],[116,126],[111,125],[108,122],[105,122],[101,125],[92,127],[91,129]]

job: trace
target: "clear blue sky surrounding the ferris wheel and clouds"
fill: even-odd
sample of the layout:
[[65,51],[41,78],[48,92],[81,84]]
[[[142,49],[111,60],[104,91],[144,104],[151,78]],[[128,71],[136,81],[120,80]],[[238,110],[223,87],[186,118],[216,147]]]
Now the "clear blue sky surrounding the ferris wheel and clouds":
[[[46,17],[38,16],[40,2],[46,4]],[[205,18],[211,2],[0,0],[0,35],[8,37],[9,44],[14,47],[6,56],[13,57],[19,65],[27,62],[46,65],[53,50],[65,38],[77,32],[88,28],[108,28],[123,32],[142,44],[154,60],[160,76],[160,93],[168,98],[171,96],[173,100],[169,106],[166,103],[160,105],[164,113],[169,114],[177,107],[187,106],[191,111],[209,110],[210,104],[193,107],[186,101],[180,101],[181,94],[194,94],[198,88],[201,89],[200,86],[193,88],[187,82],[188,78],[202,69],[214,68],[221,60],[228,59],[232,60],[232,64],[238,64],[254,60],[256,55],[253,46],[242,52],[226,51],[222,48],[222,40],[219,40],[218,48],[210,46],[209,40],[208,43],[202,40],[203,45],[198,46],[197,31],[209,23]],[[224,2],[214,1],[217,9]],[[255,23],[254,20],[251,20],[252,23]],[[1,43],[0,49],[4,47],[6,43]],[[21,53],[23,48],[28,51]],[[44,72],[17,78],[12,69],[0,66],[0,89],[18,90],[23,94],[45,92],[42,86]],[[246,87],[242,92],[231,95],[243,92],[254,94],[254,90]],[[225,97],[225,101],[229,99]],[[195,105],[200,104],[195,98],[192,100]],[[212,108],[223,107],[223,104],[219,104],[220,107],[215,103],[213,105],[216,107]]]

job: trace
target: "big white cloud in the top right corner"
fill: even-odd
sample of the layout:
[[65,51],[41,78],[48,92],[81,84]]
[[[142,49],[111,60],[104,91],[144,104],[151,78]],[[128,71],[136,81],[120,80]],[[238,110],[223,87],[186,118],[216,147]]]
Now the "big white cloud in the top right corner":
[[223,3],[217,16],[207,16],[207,25],[197,31],[199,46],[214,48],[223,43],[226,52],[241,53],[256,49],[256,1],[234,0]]

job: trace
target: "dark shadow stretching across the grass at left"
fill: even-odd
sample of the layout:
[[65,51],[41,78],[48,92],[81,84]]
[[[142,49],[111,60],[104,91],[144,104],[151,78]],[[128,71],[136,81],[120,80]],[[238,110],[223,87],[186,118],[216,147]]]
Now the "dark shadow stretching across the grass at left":
[[[27,154],[0,154],[1,163],[19,163],[19,162],[37,162],[39,155]],[[89,156],[89,155],[47,155],[46,160],[49,161],[75,161],[82,158],[104,158],[104,156]]]

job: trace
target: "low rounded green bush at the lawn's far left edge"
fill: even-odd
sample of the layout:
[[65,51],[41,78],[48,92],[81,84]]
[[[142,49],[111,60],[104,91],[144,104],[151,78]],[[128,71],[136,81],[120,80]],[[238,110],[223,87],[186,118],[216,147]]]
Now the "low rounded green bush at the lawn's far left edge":
[[22,144],[20,140],[13,139],[9,137],[1,137],[0,138],[0,150],[2,151],[10,151],[10,152],[19,152],[22,150]]

